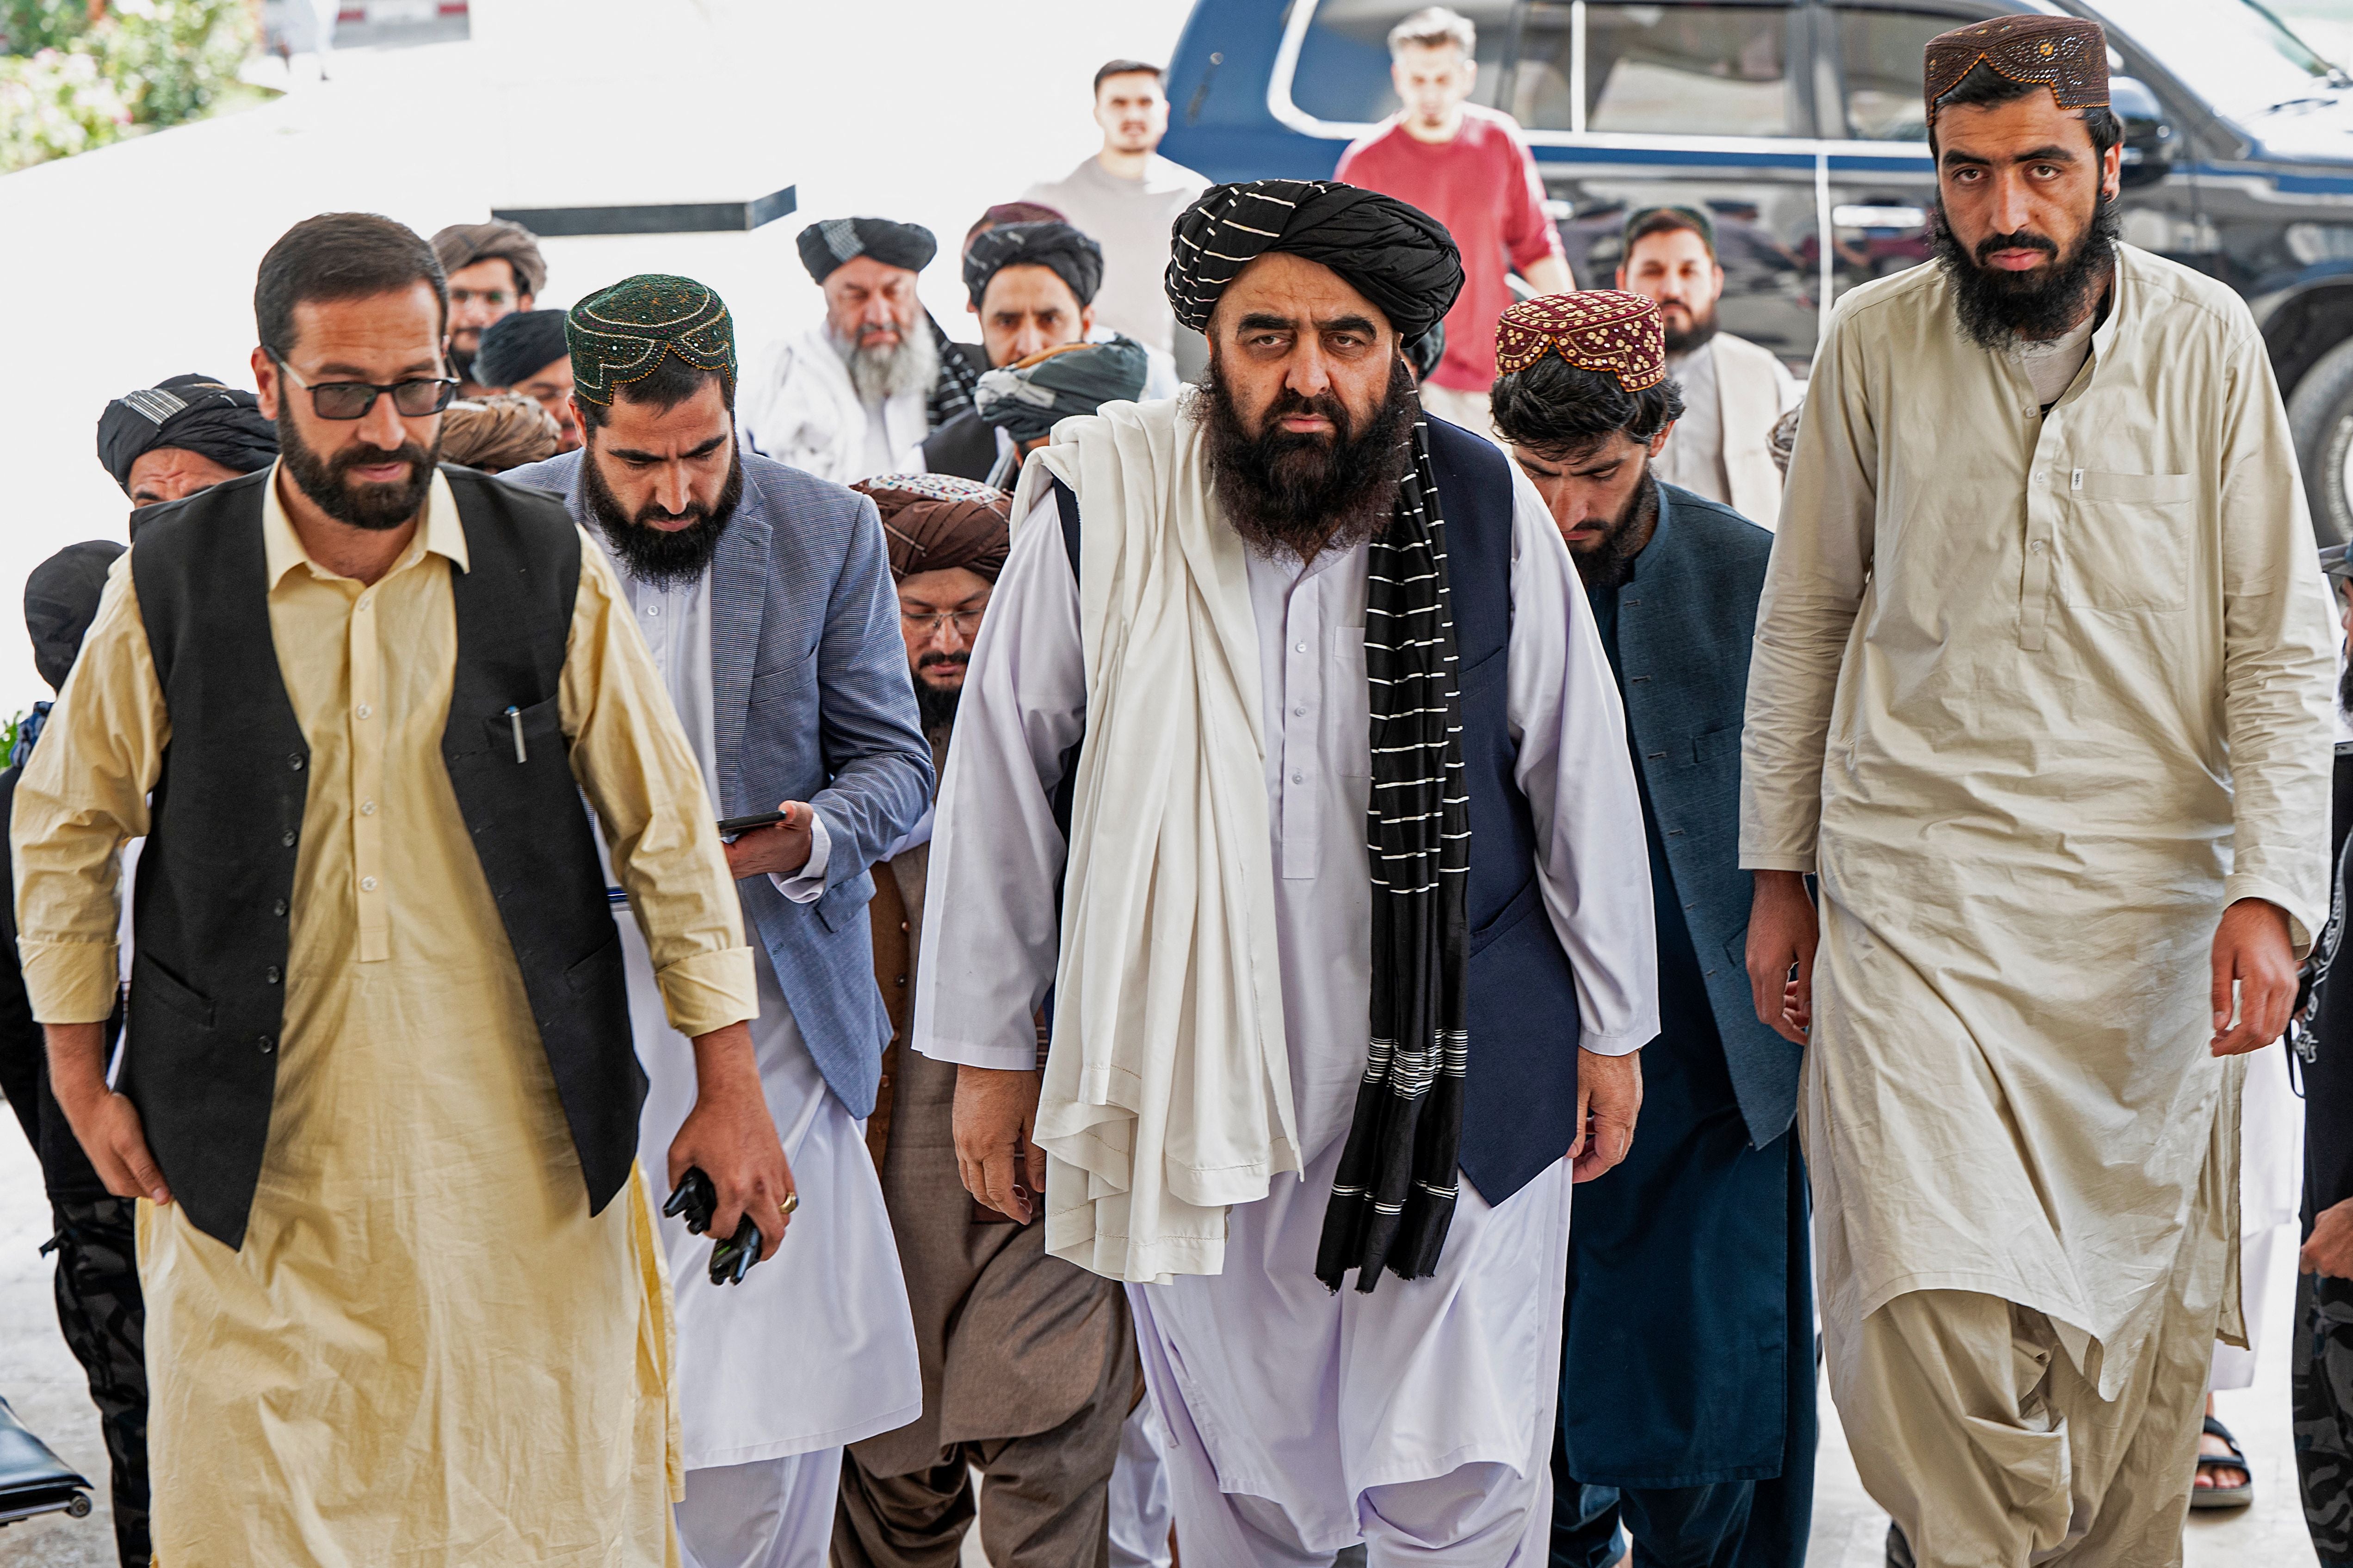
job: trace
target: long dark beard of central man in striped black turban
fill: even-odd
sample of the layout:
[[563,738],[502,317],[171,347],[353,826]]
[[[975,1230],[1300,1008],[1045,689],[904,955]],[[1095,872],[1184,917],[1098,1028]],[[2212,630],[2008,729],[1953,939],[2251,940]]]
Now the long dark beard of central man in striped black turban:
[[[1306,562],[1365,543],[1388,524],[1421,411],[1402,357],[1391,364],[1388,390],[1362,430],[1337,393],[1301,397],[1285,388],[1252,435],[1214,357],[1200,393],[1209,484],[1226,522],[1252,550]],[[1292,435],[1275,423],[1287,414],[1322,414],[1334,433]]]

